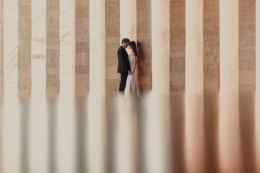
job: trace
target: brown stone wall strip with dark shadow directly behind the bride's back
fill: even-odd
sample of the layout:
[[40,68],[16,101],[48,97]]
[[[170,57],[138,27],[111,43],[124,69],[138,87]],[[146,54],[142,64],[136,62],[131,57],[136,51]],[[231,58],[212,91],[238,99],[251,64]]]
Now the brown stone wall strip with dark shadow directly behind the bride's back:
[[136,0],[137,13],[137,84],[140,94],[152,89],[151,0]]

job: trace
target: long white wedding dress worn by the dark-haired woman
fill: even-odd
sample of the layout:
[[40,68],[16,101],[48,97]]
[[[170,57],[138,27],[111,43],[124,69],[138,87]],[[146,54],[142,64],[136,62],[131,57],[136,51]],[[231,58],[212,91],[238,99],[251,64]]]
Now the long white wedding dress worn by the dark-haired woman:
[[[136,57],[137,58],[137,57]],[[134,68],[135,61],[133,59],[133,56],[130,54],[128,56],[129,64],[131,70]],[[140,97],[138,86],[137,86],[137,79],[136,79],[136,67],[135,72],[132,75],[128,75],[127,77],[127,91],[125,91],[125,98],[131,96],[131,97]]]

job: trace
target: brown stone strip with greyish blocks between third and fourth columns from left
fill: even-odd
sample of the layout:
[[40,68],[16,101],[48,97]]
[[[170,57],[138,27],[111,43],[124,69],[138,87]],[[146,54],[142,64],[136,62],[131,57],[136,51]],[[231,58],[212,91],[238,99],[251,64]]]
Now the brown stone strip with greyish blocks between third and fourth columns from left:
[[75,93],[89,92],[89,1],[76,0]]

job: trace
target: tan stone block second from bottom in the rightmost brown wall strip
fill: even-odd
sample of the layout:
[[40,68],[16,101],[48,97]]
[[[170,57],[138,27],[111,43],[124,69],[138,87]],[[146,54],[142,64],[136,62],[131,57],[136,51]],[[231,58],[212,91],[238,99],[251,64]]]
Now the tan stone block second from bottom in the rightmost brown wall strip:
[[239,85],[255,85],[255,70],[239,70]]

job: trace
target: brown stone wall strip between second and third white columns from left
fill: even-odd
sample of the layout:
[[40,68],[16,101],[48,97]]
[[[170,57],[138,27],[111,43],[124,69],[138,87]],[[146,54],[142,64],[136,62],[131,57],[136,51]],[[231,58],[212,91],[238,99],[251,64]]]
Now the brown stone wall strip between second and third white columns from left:
[[60,1],[46,0],[46,96],[60,93]]

